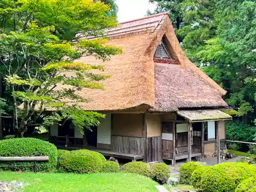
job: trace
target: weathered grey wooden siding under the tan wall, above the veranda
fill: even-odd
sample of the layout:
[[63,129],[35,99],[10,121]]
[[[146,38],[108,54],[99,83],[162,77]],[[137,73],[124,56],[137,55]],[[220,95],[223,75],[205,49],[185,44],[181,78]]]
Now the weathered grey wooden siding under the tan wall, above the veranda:
[[111,137],[111,150],[118,153],[144,155],[145,139],[141,137]]

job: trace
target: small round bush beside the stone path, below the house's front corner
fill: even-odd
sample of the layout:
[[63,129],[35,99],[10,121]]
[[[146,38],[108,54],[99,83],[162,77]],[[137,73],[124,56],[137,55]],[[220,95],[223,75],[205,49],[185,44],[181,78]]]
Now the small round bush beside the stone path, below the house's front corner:
[[169,167],[165,163],[154,163],[150,172],[150,177],[160,184],[165,184],[170,177]]

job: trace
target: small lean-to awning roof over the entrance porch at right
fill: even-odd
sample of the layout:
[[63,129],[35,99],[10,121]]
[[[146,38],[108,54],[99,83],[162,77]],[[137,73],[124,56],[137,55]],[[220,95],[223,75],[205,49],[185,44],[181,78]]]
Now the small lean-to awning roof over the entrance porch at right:
[[177,111],[177,114],[189,122],[228,120],[232,117],[220,110],[184,110]]

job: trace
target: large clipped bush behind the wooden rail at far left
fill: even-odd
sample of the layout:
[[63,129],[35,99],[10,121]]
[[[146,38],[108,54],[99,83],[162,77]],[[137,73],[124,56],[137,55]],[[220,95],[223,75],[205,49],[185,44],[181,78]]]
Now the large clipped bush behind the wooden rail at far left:
[[[55,172],[57,164],[57,148],[55,145],[35,138],[15,138],[0,141],[0,156],[28,157],[49,156],[49,162],[37,162],[37,172]],[[32,171],[32,162],[1,162],[4,170]],[[18,165],[18,166],[13,166]],[[20,166],[22,165],[22,166]]]

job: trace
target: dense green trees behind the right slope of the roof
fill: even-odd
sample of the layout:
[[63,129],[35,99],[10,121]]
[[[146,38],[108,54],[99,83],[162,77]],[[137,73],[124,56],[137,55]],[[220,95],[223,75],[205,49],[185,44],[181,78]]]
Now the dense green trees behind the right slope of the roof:
[[[255,118],[255,2],[151,0],[176,21],[181,46],[190,60],[226,91],[225,100],[245,123]],[[179,11],[177,11],[179,10]],[[157,10],[158,11],[158,10]],[[175,22],[177,23],[177,22]]]

